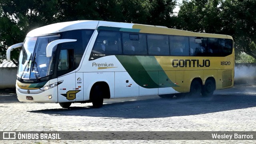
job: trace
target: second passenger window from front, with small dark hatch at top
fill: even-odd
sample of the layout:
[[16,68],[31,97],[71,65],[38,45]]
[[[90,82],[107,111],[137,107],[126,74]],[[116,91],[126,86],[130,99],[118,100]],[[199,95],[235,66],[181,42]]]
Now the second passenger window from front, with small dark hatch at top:
[[147,55],[146,34],[122,32],[124,55]]

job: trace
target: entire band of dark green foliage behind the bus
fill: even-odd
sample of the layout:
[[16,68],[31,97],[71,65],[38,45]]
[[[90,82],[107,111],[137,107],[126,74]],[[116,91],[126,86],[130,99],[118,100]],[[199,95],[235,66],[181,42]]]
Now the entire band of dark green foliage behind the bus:
[[[256,58],[255,0],[0,0],[0,60],[8,46],[22,42],[40,26],[72,20],[106,20],[228,34],[236,58],[244,52]],[[12,51],[17,62],[19,51]]]

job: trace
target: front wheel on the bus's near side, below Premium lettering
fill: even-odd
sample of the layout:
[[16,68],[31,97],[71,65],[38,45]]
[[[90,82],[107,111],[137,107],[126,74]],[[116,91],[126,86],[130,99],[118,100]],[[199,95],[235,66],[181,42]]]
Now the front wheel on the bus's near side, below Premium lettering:
[[92,98],[92,106],[94,108],[100,108],[103,105],[103,89],[101,88],[100,85],[95,85],[92,88],[92,93],[91,93],[91,98]]

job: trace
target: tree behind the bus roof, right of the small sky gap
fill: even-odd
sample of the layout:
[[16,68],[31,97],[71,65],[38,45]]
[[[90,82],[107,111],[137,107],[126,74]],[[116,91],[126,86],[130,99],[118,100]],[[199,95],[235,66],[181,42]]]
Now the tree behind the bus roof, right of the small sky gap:
[[179,29],[220,33],[220,0],[183,0],[178,12]]

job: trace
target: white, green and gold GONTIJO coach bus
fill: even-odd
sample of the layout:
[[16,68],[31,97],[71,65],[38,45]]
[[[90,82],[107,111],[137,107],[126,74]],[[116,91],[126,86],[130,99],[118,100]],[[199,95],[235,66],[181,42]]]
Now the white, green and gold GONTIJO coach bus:
[[164,26],[80,20],[36,28],[19,48],[20,102],[92,102],[159,95],[212,96],[234,86],[231,36]]

